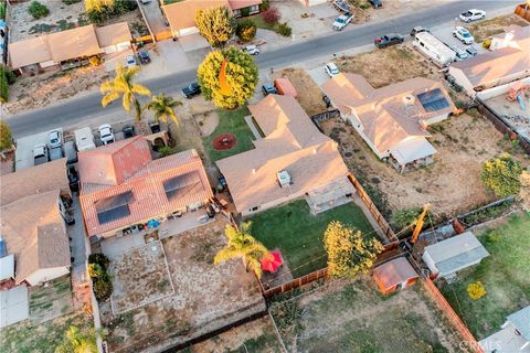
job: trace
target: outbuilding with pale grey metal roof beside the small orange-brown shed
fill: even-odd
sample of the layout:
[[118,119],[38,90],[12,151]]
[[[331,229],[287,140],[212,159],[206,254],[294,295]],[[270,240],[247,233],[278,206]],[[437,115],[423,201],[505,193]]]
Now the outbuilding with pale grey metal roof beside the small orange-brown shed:
[[423,260],[433,276],[451,278],[479,264],[489,253],[471,232],[465,232],[424,248]]

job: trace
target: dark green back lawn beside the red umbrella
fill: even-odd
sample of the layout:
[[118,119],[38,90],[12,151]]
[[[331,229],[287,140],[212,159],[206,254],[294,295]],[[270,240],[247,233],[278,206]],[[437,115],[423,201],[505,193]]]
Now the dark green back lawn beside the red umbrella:
[[352,202],[314,216],[307,202],[299,200],[262,212],[251,221],[254,237],[269,249],[280,249],[294,278],[326,267],[322,239],[331,221],[340,221],[373,236],[370,222]]

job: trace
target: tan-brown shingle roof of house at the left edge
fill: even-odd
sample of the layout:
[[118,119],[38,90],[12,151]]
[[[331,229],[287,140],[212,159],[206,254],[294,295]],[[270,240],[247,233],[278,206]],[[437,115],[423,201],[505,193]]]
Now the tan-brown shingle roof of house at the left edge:
[[1,206],[1,234],[15,256],[15,281],[43,268],[70,266],[70,243],[59,210],[59,190]]

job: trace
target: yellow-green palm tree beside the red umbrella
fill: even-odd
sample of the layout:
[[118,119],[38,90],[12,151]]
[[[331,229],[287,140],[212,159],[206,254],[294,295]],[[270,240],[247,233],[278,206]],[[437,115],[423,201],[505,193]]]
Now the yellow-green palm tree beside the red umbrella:
[[251,222],[245,222],[239,229],[233,225],[226,225],[224,234],[226,235],[229,243],[224,248],[219,250],[213,263],[219,265],[231,258],[241,257],[246,270],[248,271],[248,268],[252,269],[257,278],[261,278],[263,271],[259,260],[268,253],[268,250],[262,243],[257,242],[251,234],[248,234],[251,225]]

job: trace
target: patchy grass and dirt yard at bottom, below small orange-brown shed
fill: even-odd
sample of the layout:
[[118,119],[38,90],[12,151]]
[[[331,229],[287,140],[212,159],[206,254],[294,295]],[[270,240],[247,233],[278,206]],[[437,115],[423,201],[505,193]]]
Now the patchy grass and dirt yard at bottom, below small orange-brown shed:
[[423,284],[383,296],[370,278],[335,280],[273,304],[288,352],[460,352]]

